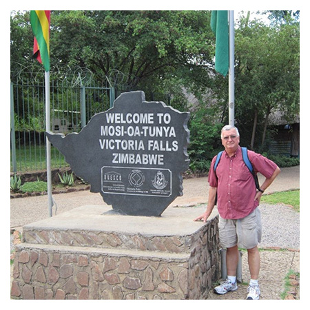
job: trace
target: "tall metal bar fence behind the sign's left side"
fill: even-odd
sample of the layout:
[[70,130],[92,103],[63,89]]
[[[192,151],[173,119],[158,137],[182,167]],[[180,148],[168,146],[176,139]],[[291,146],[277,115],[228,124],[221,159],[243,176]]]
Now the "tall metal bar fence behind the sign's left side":
[[[11,81],[11,172],[34,172],[46,169],[45,161],[45,85],[44,81]],[[51,131],[79,132],[96,113],[110,107],[114,87],[68,81],[51,81]],[[51,167],[67,164],[57,149],[51,149]]]

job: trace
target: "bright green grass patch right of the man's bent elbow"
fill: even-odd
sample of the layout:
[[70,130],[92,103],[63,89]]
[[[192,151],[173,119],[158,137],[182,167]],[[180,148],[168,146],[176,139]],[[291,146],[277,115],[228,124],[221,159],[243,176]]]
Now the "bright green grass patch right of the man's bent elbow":
[[278,203],[283,203],[284,205],[289,205],[293,209],[299,212],[300,209],[300,190],[288,191],[288,192],[278,192],[269,195],[263,195],[260,199],[262,203],[268,203],[269,205],[277,205]]

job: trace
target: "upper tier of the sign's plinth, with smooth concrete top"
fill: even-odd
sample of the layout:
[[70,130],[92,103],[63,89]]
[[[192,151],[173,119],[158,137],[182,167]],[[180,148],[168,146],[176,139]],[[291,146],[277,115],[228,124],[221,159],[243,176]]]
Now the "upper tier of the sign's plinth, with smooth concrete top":
[[[165,216],[105,216],[109,207],[87,205],[25,225],[23,242],[38,245],[190,253],[203,238],[201,222],[189,220],[205,207],[173,207]],[[201,209],[201,210],[200,210]],[[210,227],[213,229],[213,227]],[[210,231],[210,236],[215,234]],[[201,236],[200,236],[201,235]],[[206,243],[206,240],[202,240]]]

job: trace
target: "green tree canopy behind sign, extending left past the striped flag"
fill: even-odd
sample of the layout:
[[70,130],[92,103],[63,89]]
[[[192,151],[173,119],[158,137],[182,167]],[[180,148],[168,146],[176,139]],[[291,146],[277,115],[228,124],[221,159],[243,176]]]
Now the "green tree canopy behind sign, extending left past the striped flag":
[[[209,19],[209,11],[52,11],[51,78],[79,65],[97,80],[142,89],[147,98],[169,93],[169,85],[178,85],[178,94],[196,82],[202,85],[196,90],[205,90],[214,58]],[[38,65],[31,59],[29,12],[11,14],[11,37],[14,58],[27,55],[23,63]]]

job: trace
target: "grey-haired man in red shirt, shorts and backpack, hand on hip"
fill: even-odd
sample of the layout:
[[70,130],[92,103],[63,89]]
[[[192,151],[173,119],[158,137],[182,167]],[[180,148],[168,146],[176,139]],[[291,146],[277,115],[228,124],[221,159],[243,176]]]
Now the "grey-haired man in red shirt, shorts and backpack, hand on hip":
[[236,269],[238,265],[238,245],[245,247],[248,253],[248,264],[251,280],[247,299],[259,299],[258,273],[260,271],[260,254],[258,242],[262,235],[260,211],[258,205],[262,193],[271,185],[280,173],[280,168],[260,154],[248,151],[249,161],[255,172],[265,176],[265,181],[256,189],[254,177],[242,159],[239,146],[238,129],[231,125],[223,127],[221,132],[225,152],[220,157],[216,171],[211,162],[209,171],[209,200],[205,213],[194,220],[207,221],[214,209],[216,195],[218,197],[218,213],[220,214],[220,243],[227,249],[227,280],[214,289],[215,293],[225,294],[238,289]]

